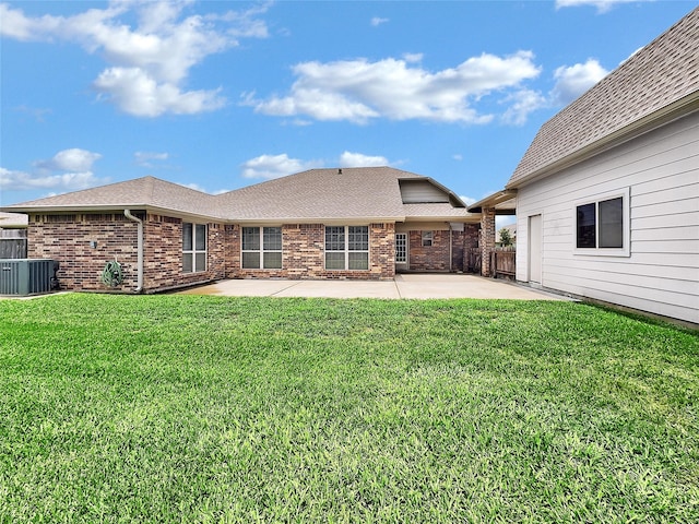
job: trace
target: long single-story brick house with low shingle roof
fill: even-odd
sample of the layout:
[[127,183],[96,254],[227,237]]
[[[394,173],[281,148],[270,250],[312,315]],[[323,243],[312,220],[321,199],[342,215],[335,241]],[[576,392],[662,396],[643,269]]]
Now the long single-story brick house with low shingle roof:
[[28,215],[28,257],[61,286],[122,291],[222,278],[388,279],[463,271],[478,214],[431,178],[389,167],[311,169],[211,195],[144,177],[4,207]]

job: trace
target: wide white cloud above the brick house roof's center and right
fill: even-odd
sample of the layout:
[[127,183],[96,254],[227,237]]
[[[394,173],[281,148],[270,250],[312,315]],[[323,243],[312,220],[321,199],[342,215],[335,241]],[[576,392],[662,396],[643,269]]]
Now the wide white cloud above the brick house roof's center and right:
[[509,90],[537,76],[541,69],[533,59],[530,51],[484,53],[435,73],[406,59],[304,62],[293,68],[297,80],[289,95],[260,100],[251,94],[244,104],[265,115],[355,123],[374,118],[487,123],[493,115],[481,115],[472,103],[496,92],[507,97]]

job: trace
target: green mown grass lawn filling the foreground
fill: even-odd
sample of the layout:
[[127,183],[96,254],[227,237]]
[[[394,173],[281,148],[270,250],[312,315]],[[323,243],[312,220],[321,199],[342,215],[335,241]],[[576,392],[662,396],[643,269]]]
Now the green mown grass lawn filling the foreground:
[[0,301],[0,522],[699,521],[699,335],[569,302]]

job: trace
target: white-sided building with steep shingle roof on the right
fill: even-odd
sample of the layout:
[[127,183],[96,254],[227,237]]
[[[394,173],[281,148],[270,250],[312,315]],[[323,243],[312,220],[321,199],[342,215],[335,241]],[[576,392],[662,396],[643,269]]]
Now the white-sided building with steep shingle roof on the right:
[[699,323],[699,9],[546,122],[507,189],[518,281]]

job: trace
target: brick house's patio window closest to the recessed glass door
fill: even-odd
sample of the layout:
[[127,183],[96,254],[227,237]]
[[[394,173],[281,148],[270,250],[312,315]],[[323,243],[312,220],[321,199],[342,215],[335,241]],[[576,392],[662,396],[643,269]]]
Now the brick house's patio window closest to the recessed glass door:
[[327,226],[325,269],[368,270],[369,228],[367,226]]

